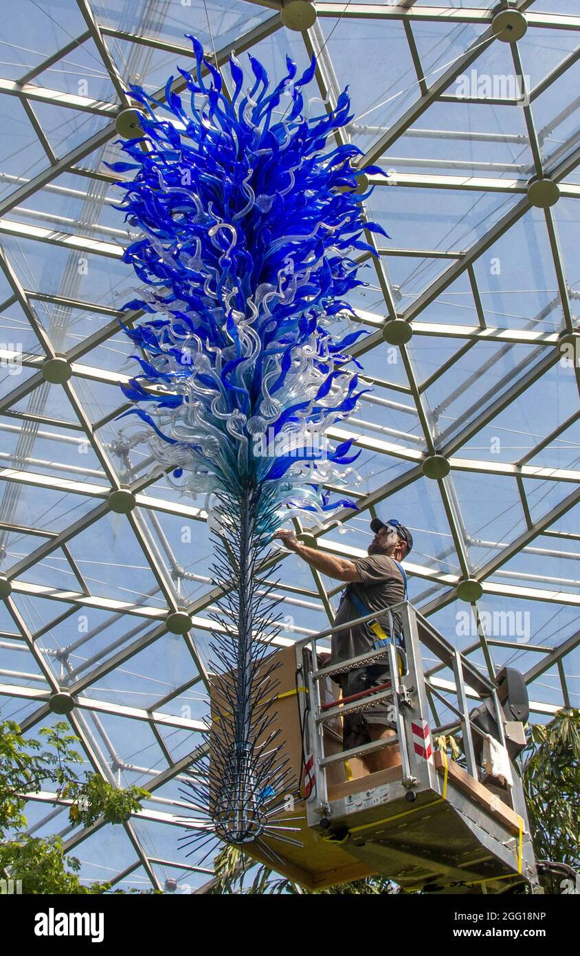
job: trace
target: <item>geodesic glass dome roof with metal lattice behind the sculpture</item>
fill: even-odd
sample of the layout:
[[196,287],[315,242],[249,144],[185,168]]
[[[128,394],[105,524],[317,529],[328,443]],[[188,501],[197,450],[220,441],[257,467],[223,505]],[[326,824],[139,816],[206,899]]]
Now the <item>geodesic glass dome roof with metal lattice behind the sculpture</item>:
[[[103,164],[119,159],[128,83],[162,100],[194,62],[185,33],[226,86],[232,51],[270,77],[286,54],[302,70],[316,54],[318,106],[349,86],[354,120],[336,144],[388,173],[369,177],[365,212],[390,239],[366,235],[379,254],[361,256],[368,284],[349,299],[373,390],[330,429],[361,449],[359,485],[332,489],[359,511],[318,547],[366,554],[371,518],[397,516],[415,539],[419,611],[484,673],[521,670],[530,721],[580,700],[577,3],[282,7],[3,10],[0,717],[34,736],[62,719],[50,699],[72,695],[84,769],[152,793],[125,824],[88,829],[52,793],[27,804],[31,832],[59,833],[83,880],[125,889],[185,892],[212,874],[177,843],[183,771],[205,749],[211,545],[203,502],[181,497],[118,418],[135,374],[118,318],[136,280]],[[278,641],[328,626],[342,587],[285,554]],[[193,621],[184,634],[167,629],[175,607]],[[453,674],[433,680],[444,692]]]

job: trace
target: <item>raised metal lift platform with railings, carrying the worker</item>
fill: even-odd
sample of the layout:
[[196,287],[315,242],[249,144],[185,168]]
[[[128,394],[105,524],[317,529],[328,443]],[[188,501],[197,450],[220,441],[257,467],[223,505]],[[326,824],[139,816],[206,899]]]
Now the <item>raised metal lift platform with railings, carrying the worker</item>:
[[[478,766],[485,730],[511,756],[525,746],[527,701],[521,689],[519,699],[510,700],[506,679],[514,672],[489,680],[411,604],[392,610],[403,621],[402,667],[391,641],[384,650],[325,665],[324,641],[340,627],[276,652],[280,692],[269,729],[282,728],[290,767],[303,786],[293,808],[277,815],[293,842],[264,837],[268,854],[254,844],[246,852],[311,890],[380,874],[404,889],[432,893],[498,894],[524,882],[541,893],[518,771],[511,763],[513,787],[502,787]],[[375,618],[376,612],[357,620]],[[421,651],[453,679],[425,677]],[[343,702],[333,677],[385,657],[392,683],[372,697]],[[482,702],[471,714],[468,697]],[[397,736],[342,750],[342,717],[384,700],[392,702]],[[453,715],[444,726],[436,700]],[[437,744],[457,731],[464,766]],[[365,753],[393,746],[400,767],[366,771]]]

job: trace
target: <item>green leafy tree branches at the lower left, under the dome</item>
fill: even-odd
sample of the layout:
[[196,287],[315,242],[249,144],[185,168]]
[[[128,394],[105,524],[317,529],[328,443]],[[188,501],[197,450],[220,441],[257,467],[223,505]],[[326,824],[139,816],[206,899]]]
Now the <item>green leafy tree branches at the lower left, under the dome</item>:
[[[76,874],[80,863],[64,855],[62,840],[26,833],[26,793],[54,788],[56,800],[70,800],[69,820],[91,826],[97,820],[124,823],[151,794],[140,787],[117,790],[98,773],[79,779],[75,764],[79,743],[66,723],[41,728],[43,742],[24,738],[18,724],[0,723],[0,877],[22,880],[23,893],[104,893],[110,883],[84,886]],[[119,891],[114,891],[119,892]]]

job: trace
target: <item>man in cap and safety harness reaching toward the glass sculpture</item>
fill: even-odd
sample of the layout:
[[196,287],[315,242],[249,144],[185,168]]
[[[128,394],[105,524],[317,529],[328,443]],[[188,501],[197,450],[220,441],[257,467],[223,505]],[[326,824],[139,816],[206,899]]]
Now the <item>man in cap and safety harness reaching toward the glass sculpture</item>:
[[[274,535],[316,571],[348,582],[342,594],[334,624],[343,624],[369,615],[373,611],[377,612],[376,620],[354,624],[353,627],[333,634],[331,657],[326,662],[329,664],[348,661],[374,648],[384,647],[386,641],[391,638],[389,616],[385,613],[385,609],[407,598],[407,577],[400,561],[413,547],[411,532],[397,518],[390,518],[388,521],[374,518],[371,521],[371,531],[375,532],[375,537],[369,545],[368,556],[354,558],[354,560],[334,557],[332,554],[323,554],[316,548],[309,548],[297,540],[294,532],[279,531]],[[401,619],[397,613],[394,613],[392,618],[395,630],[394,640],[397,647],[404,651]],[[348,699],[354,694],[388,682],[390,680],[388,660],[385,656],[378,663],[370,666],[336,674],[335,680],[340,684],[343,699]],[[361,747],[371,741],[392,737],[396,732],[397,723],[393,708],[389,699],[383,698],[362,711],[345,714],[343,749],[351,750]],[[371,773],[389,767],[398,767],[400,751],[396,745],[392,745],[369,753],[366,757],[363,756],[363,762]]]

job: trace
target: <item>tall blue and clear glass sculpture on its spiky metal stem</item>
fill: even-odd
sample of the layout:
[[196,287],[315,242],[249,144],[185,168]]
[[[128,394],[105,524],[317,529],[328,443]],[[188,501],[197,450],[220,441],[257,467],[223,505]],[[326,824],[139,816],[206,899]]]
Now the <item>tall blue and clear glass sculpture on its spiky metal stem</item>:
[[351,255],[374,253],[365,228],[386,232],[363,218],[372,190],[354,192],[361,150],[327,147],[353,119],[347,91],[332,111],[304,115],[314,57],[296,78],[287,56],[288,74],[269,92],[251,55],[244,91],[231,55],[234,90],[225,93],[189,38],[196,66],[180,70],[187,104],[173,76],[163,103],[132,85],[142,136],[122,144],[130,162],[110,165],[134,173],[118,183],[118,207],[139,228],[123,260],[143,286],[124,308],[147,314],[134,328],[121,323],[140,350],[140,374],[121,388],[154,457],[184,493],[206,495],[223,597],[213,616],[210,754],[191,787],[204,836],[244,844],[276,836],[290,786],[283,744],[269,733],[279,615],[260,565],[290,517],[315,524],[356,507],[325,489],[344,482],[357,457],[351,442],[332,446],[325,432],[364,391],[348,349],[365,332],[340,322],[354,315],[342,296],[366,285]]

